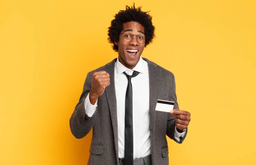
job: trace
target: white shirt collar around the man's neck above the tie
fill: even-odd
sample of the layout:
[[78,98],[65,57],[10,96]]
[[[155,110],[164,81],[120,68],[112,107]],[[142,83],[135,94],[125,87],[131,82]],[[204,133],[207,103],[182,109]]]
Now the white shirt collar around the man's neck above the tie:
[[122,74],[124,71],[138,71],[140,73],[144,73],[144,63],[143,63],[143,59],[142,57],[140,57],[140,60],[139,62],[137,63],[137,65],[133,68],[133,69],[129,69],[129,68],[126,68],[124,65],[122,65],[122,63],[120,63],[119,61],[119,58],[117,58],[116,60],[116,72],[118,75]]

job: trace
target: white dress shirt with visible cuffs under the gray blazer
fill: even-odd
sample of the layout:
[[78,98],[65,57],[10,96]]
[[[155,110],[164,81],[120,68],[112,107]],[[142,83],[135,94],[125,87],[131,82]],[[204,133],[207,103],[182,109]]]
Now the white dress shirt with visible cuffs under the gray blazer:
[[[131,78],[133,89],[133,132],[134,132],[134,159],[145,157],[151,154],[150,142],[150,121],[149,121],[149,75],[148,63],[140,57],[137,65],[131,70],[126,68],[117,58],[115,63],[115,91],[117,106],[118,124],[118,151],[119,158],[125,155],[125,94],[128,79],[123,72],[132,75],[133,71],[138,71],[136,77]],[[108,87],[107,87],[108,88]],[[98,101],[98,100],[97,100]],[[96,111],[95,105],[90,104],[89,94],[85,98],[85,113],[91,117]],[[175,128],[175,139],[178,141],[183,137],[185,131],[179,133]]]

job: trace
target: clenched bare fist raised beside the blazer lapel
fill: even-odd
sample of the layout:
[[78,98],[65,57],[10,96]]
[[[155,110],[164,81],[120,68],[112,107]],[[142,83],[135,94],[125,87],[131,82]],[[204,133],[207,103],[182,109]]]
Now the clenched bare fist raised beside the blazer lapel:
[[100,97],[105,88],[110,85],[109,74],[106,71],[97,71],[93,73],[92,87],[90,89],[89,99],[91,104],[95,104],[98,97]]

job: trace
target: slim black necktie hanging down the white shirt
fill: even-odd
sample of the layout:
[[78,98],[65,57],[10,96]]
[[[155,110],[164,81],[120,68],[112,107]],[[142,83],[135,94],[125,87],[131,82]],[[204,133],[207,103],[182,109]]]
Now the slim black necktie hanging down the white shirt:
[[124,72],[128,78],[125,95],[125,165],[133,165],[133,119],[132,119],[132,85],[131,77],[140,72],[134,71],[131,76]]

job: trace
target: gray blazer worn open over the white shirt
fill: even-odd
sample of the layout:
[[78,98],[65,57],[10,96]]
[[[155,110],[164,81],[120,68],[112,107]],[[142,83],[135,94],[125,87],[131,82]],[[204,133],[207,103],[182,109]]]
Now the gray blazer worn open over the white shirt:
[[[143,58],[149,71],[149,115],[152,165],[169,165],[166,135],[174,139],[175,120],[173,115],[155,111],[157,100],[174,101],[178,108],[174,75],[159,65]],[[86,136],[93,128],[88,165],[119,165],[116,93],[114,67],[116,59],[87,74],[79,103],[70,117],[70,129],[76,138]],[[85,114],[84,100],[91,88],[92,74],[95,71],[107,71],[110,86],[98,98],[98,106],[92,117]],[[187,133],[187,130],[186,130]],[[186,135],[180,139],[182,143]]]

